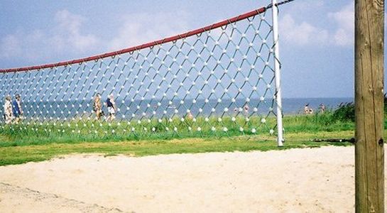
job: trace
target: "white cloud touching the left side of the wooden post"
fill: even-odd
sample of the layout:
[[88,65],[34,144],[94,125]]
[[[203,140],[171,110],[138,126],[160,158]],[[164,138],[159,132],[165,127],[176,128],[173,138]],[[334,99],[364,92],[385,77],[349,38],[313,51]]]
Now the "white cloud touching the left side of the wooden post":
[[336,45],[347,46],[354,44],[354,15],[353,1],[340,11],[328,14],[328,17],[332,18],[339,27],[332,35]]

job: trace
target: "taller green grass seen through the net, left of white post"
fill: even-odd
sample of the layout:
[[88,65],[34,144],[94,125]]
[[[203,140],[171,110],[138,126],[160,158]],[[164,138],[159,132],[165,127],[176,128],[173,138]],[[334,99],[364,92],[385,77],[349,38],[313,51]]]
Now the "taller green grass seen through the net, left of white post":
[[[196,121],[180,121],[179,118],[106,121],[94,120],[74,120],[63,123],[50,122],[30,122],[23,124],[13,124],[3,126],[0,135],[7,136],[9,140],[0,143],[0,147],[6,146],[26,146],[48,143],[82,143],[85,141],[106,142],[106,141],[138,141],[138,140],[170,140],[173,138],[198,138],[198,137],[223,137],[223,136],[249,136],[256,134],[268,134],[271,126],[275,126],[273,117],[266,117],[265,123],[261,122],[261,117],[251,117],[246,121],[243,117],[222,118],[218,121],[216,117],[210,117],[205,121],[204,117],[197,118]],[[216,131],[212,131],[212,128]],[[224,131],[227,127],[227,131]],[[240,131],[240,127],[244,131]],[[198,129],[200,128],[200,131]],[[178,131],[174,131],[177,129]],[[132,131],[134,130],[134,131]]]

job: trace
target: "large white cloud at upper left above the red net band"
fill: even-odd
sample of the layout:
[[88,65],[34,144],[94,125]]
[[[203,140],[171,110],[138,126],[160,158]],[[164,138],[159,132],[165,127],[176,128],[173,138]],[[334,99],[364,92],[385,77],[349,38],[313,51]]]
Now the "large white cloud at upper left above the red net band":
[[23,58],[27,62],[42,62],[53,55],[85,53],[99,43],[92,34],[82,33],[85,18],[67,10],[55,13],[55,27],[23,31],[6,35],[0,40],[1,58]]

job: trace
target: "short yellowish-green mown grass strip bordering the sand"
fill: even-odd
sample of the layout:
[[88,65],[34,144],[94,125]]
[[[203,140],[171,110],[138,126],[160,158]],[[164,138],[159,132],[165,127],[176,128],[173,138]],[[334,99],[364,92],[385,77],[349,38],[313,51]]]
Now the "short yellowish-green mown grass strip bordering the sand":
[[[311,141],[288,141],[278,148],[275,141],[261,141],[258,138],[185,138],[170,141],[124,141],[105,143],[50,143],[36,146],[0,148],[0,165],[20,164],[49,160],[72,153],[102,153],[112,155],[160,155],[171,153],[207,153],[233,151],[270,151],[289,148],[315,148],[337,143],[313,143]],[[350,143],[344,143],[350,145]]]

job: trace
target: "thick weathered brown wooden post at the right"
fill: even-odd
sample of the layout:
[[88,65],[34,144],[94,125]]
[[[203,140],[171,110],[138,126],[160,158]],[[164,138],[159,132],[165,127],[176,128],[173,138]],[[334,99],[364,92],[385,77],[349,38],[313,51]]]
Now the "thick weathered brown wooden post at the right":
[[356,0],[356,212],[384,212],[383,47],[384,0]]

